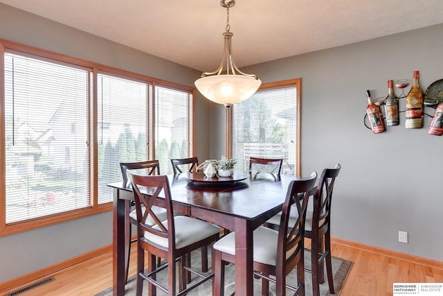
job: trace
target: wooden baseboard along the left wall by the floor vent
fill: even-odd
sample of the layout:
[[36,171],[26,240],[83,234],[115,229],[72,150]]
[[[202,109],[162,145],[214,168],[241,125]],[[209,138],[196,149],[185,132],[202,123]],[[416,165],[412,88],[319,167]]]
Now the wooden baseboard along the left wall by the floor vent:
[[101,254],[111,252],[111,250],[112,250],[112,245],[105,245],[105,247],[100,247],[96,250],[92,250],[91,252],[80,254],[68,260],[55,263],[54,265],[48,266],[46,268],[36,270],[35,272],[30,272],[27,275],[11,279],[10,281],[5,281],[4,283],[0,284],[0,293],[11,290],[12,288],[17,288],[26,283],[36,281],[37,279],[41,279],[42,277],[48,277],[49,275],[53,275],[53,273],[59,270],[62,270],[64,268],[69,268],[69,266],[81,263],[83,261],[87,261],[96,256],[100,256]]

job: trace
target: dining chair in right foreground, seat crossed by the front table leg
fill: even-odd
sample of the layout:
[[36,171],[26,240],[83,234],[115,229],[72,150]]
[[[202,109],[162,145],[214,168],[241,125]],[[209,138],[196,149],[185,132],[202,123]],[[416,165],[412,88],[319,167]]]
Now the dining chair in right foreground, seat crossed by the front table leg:
[[[295,295],[305,295],[305,215],[316,178],[317,173],[314,172],[310,177],[291,181],[278,231],[259,226],[253,232],[253,269],[254,275],[262,278],[262,295],[268,295],[269,281],[275,283],[275,295],[285,296],[286,288],[293,290]],[[289,219],[291,211],[296,211],[297,219]],[[235,263],[235,232],[220,238],[213,245],[213,295],[224,295],[226,263]],[[287,275],[295,267],[296,287],[286,281]]]

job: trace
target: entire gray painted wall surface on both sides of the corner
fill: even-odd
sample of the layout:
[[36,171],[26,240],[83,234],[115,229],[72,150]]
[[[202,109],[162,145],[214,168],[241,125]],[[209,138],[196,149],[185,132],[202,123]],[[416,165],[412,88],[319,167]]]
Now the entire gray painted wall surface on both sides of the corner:
[[[192,86],[199,72],[0,4],[0,38]],[[302,42],[302,40],[300,40]],[[244,69],[263,82],[302,78],[302,174],[340,162],[332,234],[443,260],[443,137],[401,125],[372,134],[363,125],[365,89],[443,78],[443,24]],[[404,108],[404,99],[401,100]],[[224,109],[197,96],[197,156],[224,155]],[[404,110],[404,109],[401,109]],[[428,110],[426,110],[428,111]],[[428,111],[429,112],[429,111]],[[207,123],[210,123],[209,125]],[[111,213],[0,237],[0,283],[111,243]],[[398,243],[398,231],[410,243]]]

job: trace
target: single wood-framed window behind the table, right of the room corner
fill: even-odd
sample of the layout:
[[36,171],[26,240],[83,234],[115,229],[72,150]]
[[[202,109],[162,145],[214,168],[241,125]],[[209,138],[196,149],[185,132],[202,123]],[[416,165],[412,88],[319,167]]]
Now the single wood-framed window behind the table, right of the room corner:
[[264,84],[233,106],[233,157],[282,158],[282,173],[300,175],[300,78]]

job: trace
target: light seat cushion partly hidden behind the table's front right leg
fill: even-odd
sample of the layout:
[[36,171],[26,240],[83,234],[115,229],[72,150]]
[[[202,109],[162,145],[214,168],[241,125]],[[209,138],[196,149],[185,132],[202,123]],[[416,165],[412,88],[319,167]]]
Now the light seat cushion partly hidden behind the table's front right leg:
[[[254,230],[253,236],[253,261],[275,266],[277,264],[278,231],[260,226]],[[235,255],[235,232],[230,232],[216,241],[214,249]],[[293,250],[287,252],[287,258]]]

